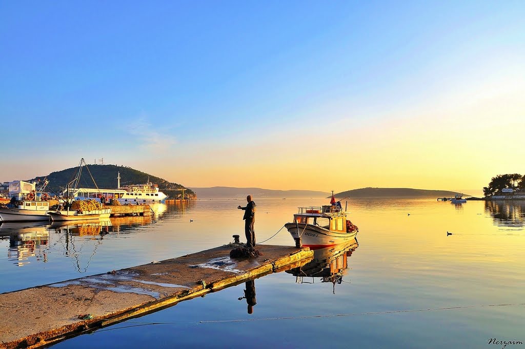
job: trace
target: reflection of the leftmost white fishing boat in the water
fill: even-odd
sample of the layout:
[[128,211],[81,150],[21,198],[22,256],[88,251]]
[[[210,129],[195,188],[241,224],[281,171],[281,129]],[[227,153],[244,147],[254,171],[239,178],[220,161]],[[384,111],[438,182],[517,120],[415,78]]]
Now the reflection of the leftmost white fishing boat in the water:
[[30,263],[31,258],[47,262],[49,222],[3,222],[0,236],[9,237],[7,258],[17,266]]

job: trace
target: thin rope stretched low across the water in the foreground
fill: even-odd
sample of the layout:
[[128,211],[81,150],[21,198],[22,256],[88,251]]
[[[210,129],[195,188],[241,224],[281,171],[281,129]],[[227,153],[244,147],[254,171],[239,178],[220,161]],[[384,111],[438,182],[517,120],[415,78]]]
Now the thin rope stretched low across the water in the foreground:
[[481,304],[481,305],[459,305],[459,306],[448,306],[441,308],[428,308],[428,309],[412,309],[412,310],[391,310],[382,312],[364,312],[364,313],[346,313],[346,314],[324,314],[324,315],[304,315],[304,316],[281,316],[281,317],[264,317],[261,319],[233,319],[233,320],[204,320],[199,322],[138,322],[138,321],[125,321],[116,320],[115,323],[129,323],[133,324],[130,326],[114,327],[112,329],[99,330],[97,332],[112,331],[126,329],[128,327],[148,326],[148,325],[183,325],[183,324],[208,324],[208,323],[227,323],[227,322],[249,322],[249,321],[270,321],[270,320],[295,320],[295,319],[321,319],[325,317],[344,317],[344,316],[360,316],[360,315],[380,315],[380,314],[395,314],[395,313],[415,313],[415,312],[427,312],[427,311],[439,311],[439,310],[457,310],[457,309],[468,309],[468,308],[479,308],[479,307],[493,307],[493,306],[517,306],[525,305],[525,303],[514,303],[514,304]]

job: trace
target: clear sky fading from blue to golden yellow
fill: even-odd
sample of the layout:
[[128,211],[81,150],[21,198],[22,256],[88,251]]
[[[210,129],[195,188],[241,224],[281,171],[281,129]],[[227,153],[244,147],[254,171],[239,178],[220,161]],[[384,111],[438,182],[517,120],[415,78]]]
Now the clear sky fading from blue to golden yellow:
[[525,2],[0,2],[0,181],[103,158],[186,187],[525,174]]

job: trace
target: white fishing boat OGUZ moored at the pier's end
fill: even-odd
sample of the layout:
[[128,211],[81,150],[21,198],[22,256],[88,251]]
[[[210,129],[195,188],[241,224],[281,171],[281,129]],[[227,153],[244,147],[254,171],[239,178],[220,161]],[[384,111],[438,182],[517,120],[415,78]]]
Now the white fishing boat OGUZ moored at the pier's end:
[[285,224],[296,244],[301,238],[304,247],[316,249],[355,239],[358,227],[346,219],[340,201],[335,202],[332,196],[331,203],[320,207],[299,207],[298,213],[293,215],[293,222]]

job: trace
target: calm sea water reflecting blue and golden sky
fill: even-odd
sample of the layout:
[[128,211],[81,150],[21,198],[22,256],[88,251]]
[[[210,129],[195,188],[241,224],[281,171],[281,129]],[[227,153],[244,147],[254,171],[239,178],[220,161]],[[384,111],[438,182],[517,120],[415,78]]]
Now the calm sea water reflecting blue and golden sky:
[[[298,206],[326,200],[255,201],[262,241]],[[153,219],[111,219],[106,227],[4,223],[0,292],[228,243],[232,234],[244,236],[236,209],[242,203],[159,205]],[[525,342],[525,202],[372,199],[348,205],[359,247],[349,256],[333,251],[335,278],[272,274],[255,280],[253,314],[245,299],[238,300],[246,289],[241,284],[54,347],[478,348],[502,347],[489,345],[490,338]],[[293,241],[283,229],[267,243]],[[321,264],[310,270],[318,273],[326,256],[318,255]]]

